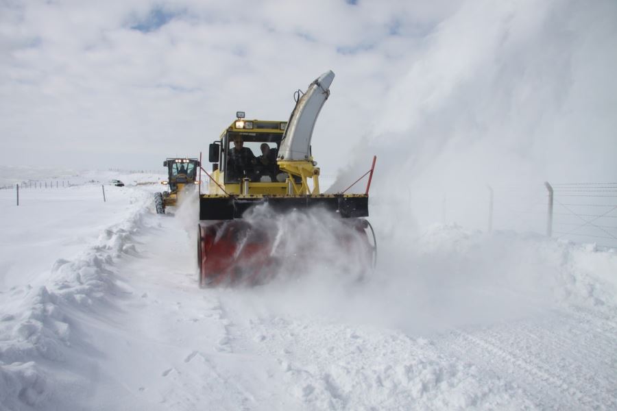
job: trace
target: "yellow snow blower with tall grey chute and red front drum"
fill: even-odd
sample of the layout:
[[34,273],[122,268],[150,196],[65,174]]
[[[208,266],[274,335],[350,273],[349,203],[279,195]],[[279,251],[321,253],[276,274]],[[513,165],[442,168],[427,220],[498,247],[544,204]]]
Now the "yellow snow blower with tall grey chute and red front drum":
[[[334,76],[328,71],[306,92],[298,92],[289,121],[248,120],[244,112],[237,112],[237,119],[210,144],[212,171],[200,168],[200,173],[210,177],[207,194],[199,195],[200,286],[261,284],[268,276],[265,272],[274,269],[285,239],[280,238],[280,232],[269,232],[245,218],[258,206],[270,208],[274,215],[327,210],[346,227],[337,234],[337,243],[344,247],[360,238],[362,256],[352,258],[367,258],[366,264],[374,264],[375,236],[363,217],[368,216],[375,158],[365,173],[369,177],[363,194],[324,194],[319,190],[319,168],[311,153],[313,127],[330,95]],[[283,235],[300,235],[293,227],[289,231]]]

